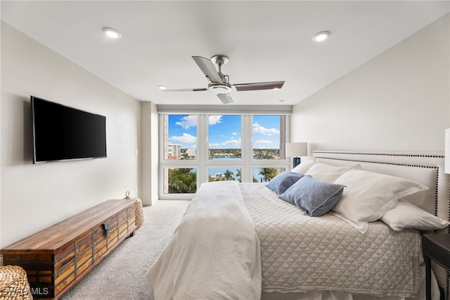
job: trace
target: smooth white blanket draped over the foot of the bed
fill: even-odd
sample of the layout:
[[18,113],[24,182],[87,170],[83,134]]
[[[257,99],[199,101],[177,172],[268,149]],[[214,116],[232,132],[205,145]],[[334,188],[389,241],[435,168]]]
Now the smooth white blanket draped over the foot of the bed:
[[146,277],[155,299],[260,299],[259,239],[238,182],[200,186]]

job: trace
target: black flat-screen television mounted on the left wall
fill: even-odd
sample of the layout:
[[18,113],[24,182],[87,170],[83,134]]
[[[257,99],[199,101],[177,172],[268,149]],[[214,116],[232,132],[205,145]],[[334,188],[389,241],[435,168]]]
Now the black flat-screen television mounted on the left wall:
[[33,163],[106,157],[106,118],[31,96]]

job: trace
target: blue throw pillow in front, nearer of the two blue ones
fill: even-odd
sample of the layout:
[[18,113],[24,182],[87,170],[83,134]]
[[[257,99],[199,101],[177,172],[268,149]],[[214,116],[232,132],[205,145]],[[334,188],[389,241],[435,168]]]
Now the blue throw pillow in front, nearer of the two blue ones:
[[295,204],[311,217],[319,217],[328,213],[338,203],[344,187],[305,175],[278,198]]

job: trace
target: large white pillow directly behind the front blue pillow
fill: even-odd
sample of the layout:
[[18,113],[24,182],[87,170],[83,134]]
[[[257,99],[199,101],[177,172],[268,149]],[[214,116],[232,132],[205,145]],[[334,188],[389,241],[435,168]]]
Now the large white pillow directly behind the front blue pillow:
[[368,222],[381,218],[400,198],[428,189],[418,182],[366,170],[349,170],[334,183],[346,188],[332,211],[352,221],[362,234],[367,232]]

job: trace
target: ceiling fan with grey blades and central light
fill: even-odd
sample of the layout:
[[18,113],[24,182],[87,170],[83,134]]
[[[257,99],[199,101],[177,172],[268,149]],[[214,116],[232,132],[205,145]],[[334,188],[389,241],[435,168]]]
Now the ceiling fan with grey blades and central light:
[[[202,56],[192,56],[195,63],[202,72],[206,75],[207,79],[210,81],[206,88],[197,89],[162,89],[164,92],[203,92],[211,91],[217,94],[219,99],[224,104],[233,103],[233,99],[229,92],[231,92],[232,87],[236,87],[238,92],[240,91],[255,91],[259,89],[281,89],[283,87],[284,81],[271,81],[271,82],[252,82],[252,83],[238,83],[232,85],[229,82],[229,75],[224,75],[221,72],[222,65],[229,62],[229,58],[224,55],[215,55],[211,59],[204,58]],[[214,65],[217,65],[219,70],[216,70]]]

